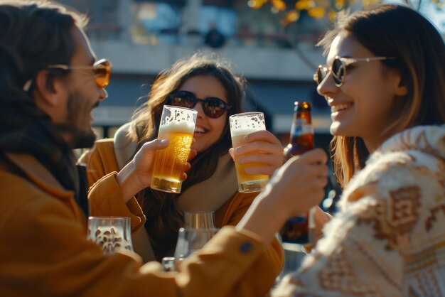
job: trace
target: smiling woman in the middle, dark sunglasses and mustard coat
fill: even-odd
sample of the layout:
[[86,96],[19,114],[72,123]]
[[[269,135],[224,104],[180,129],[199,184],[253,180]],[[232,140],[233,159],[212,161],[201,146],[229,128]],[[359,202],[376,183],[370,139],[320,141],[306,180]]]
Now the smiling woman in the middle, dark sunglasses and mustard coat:
[[[238,193],[235,166],[228,153],[232,147],[228,118],[242,112],[244,96],[245,80],[237,77],[226,61],[201,53],[178,60],[159,73],[149,100],[136,110],[132,121],[122,126],[114,139],[97,141],[95,148],[82,156],[92,185],[107,173],[119,171],[132,161],[141,146],[156,139],[165,104],[198,111],[192,146],[197,154],[191,160],[181,194],[151,188],[136,194],[146,224],[145,229],[134,234],[133,241],[144,261],[173,256],[183,211],[213,210],[216,227],[236,225],[257,195]],[[247,173],[272,175],[282,165],[282,145],[269,131],[257,131],[247,137],[248,144],[235,153],[259,151],[244,156],[241,162],[264,164],[247,168]],[[283,265],[283,251],[277,240],[269,248],[268,261],[264,279],[273,281]]]

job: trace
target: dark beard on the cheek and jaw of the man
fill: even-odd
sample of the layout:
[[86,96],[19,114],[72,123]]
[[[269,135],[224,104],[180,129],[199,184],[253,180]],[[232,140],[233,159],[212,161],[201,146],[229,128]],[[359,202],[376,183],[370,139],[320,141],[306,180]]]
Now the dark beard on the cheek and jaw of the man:
[[[70,148],[91,148],[95,144],[96,134],[89,123],[91,109],[98,107],[99,101],[93,106],[89,102],[80,92],[70,94],[67,103],[68,117],[65,123],[55,124],[60,133],[70,135]],[[80,126],[83,123],[85,127]]]

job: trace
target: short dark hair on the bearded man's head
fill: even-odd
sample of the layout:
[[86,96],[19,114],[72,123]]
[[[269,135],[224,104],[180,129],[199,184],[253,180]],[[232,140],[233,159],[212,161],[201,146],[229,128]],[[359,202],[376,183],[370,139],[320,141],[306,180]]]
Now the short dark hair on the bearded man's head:
[[23,86],[51,64],[69,64],[75,50],[70,30],[87,19],[55,4],[5,1],[0,10],[0,90],[29,97]]

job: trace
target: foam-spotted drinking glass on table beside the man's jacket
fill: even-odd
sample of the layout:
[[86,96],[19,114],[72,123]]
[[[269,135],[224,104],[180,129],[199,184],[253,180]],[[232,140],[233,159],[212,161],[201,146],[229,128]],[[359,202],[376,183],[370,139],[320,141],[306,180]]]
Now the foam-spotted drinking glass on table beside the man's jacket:
[[104,253],[133,250],[129,217],[88,217],[87,238],[99,244]]

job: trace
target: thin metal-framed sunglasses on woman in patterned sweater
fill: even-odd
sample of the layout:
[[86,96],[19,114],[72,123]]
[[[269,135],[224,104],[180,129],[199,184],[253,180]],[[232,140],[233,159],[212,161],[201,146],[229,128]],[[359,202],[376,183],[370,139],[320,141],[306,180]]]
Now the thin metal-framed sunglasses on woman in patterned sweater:
[[341,87],[346,80],[346,68],[349,65],[356,62],[371,62],[378,60],[394,60],[395,57],[371,57],[371,58],[342,58],[336,56],[334,58],[331,68],[326,67],[326,65],[319,65],[317,71],[313,75],[313,80],[316,81],[317,85],[320,85],[324,80],[326,75],[332,71],[332,78],[336,83],[337,87]]

